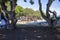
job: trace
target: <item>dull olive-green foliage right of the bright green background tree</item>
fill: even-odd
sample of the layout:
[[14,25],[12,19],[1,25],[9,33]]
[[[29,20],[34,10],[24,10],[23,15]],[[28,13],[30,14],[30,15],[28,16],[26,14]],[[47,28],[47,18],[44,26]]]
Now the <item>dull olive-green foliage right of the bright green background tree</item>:
[[31,8],[25,8],[23,11],[23,14],[25,16],[32,16],[32,17],[36,17],[36,18],[41,18],[40,12],[34,11]]

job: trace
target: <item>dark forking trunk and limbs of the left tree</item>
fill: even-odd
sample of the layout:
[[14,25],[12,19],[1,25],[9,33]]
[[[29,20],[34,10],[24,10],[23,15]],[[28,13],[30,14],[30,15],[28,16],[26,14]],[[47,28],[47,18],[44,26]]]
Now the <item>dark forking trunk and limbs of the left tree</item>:
[[[5,2],[7,2],[7,1],[10,1],[10,6],[11,6],[11,11],[10,12],[8,12],[7,11],[7,7],[5,6]],[[14,27],[14,28],[16,28],[16,22],[17,22],[17,20],[16,20],[16,18],[15,18],[15,6],[16,6],[16,2],[17,2],[17,0],[0,0],[0,5],[2,6],[2,10],[4,11],[3,13],[5,13],[5,15],[6,15],[6,17],[8,17],[7,19],[7,26],[9,26],[9,20],[10,20],[10,18],[11,18],[11,25],[12,25],[12,27]],[[8,16],[8,13],[9,13],[9,15],[10,15],[10,18],[9,18],[9,16]]]

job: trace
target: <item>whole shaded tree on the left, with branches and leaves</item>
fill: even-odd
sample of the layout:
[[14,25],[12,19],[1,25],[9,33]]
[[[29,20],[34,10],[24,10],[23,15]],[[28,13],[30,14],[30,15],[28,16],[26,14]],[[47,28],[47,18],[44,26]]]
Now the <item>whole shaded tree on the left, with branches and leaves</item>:
[[[7,4],[9,2],[9,4]],[[12,27],[16,28],[16,18],[15,18],[15,7],[16,7],[17,0],[0,0],[0,13],[5,14],[7,17],[7,24],[11,24]],[[7,10],[7,5],[10,6],[10,10]],[[10,15],[10,18],[9,18]],[[11,23],[9,23],[9,19],[11,20]],[[9,26],[9,25],[8,25]]]

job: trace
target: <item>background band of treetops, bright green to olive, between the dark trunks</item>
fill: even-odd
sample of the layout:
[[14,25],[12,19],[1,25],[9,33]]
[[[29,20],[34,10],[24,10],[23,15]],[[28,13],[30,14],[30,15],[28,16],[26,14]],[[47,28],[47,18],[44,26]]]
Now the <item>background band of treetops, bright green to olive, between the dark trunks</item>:
[[34,11],[31,8],[23,8],[21,6],[16,6],[15,8],[16,16],[31,16],[41,18],[40,12],[38,10]]

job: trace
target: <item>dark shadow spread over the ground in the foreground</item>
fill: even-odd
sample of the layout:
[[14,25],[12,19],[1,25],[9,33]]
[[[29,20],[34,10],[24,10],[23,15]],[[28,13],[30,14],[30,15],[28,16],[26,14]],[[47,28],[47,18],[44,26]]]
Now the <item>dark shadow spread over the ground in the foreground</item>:
[[[59,40],[55,28],[37,27],[32,25],[18,25],[13,31],[0,32],[6,35],[4,40]],[[1,40],[3,40],[1,39]]]

